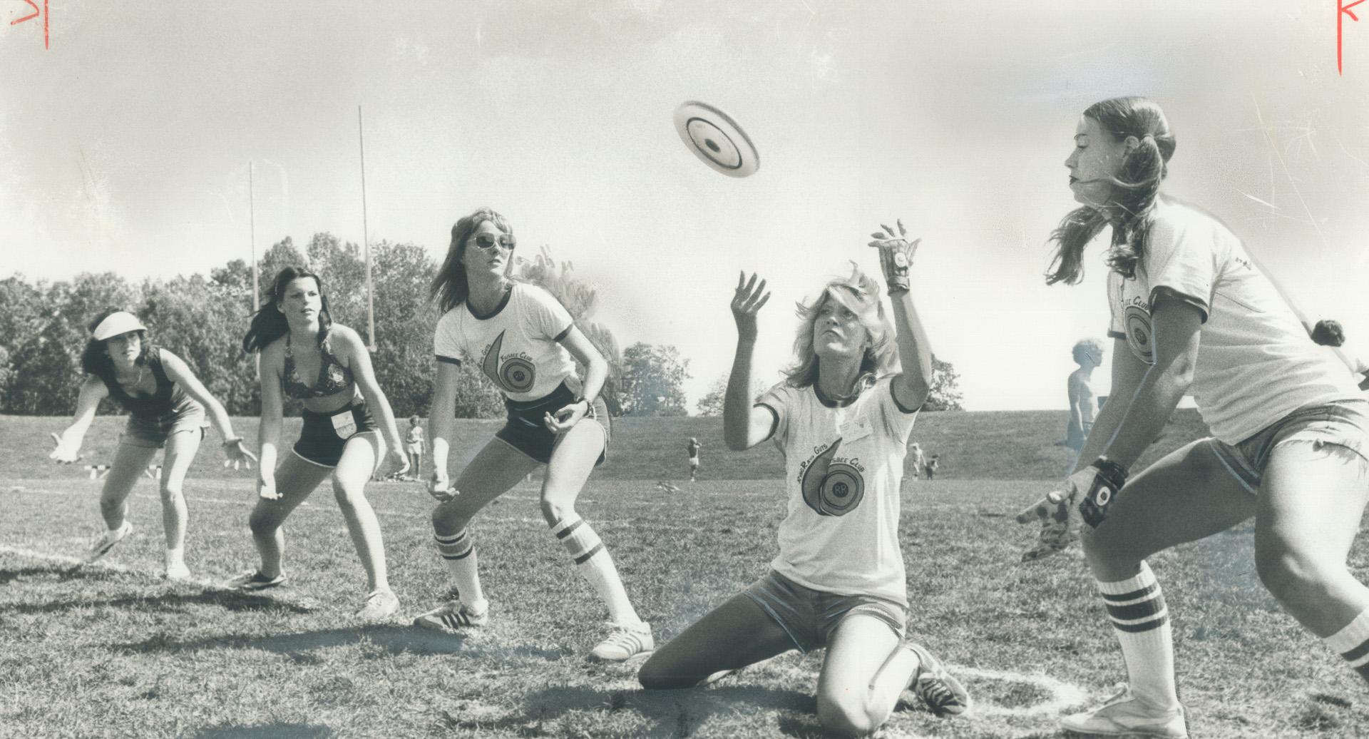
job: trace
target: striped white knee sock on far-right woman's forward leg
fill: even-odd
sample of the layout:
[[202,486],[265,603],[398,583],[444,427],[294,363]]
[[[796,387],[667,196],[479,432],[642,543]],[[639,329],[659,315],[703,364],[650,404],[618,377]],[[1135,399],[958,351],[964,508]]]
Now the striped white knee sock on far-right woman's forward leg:
[[1169,609],[1160,583],[1146,562],[1135,578],[1098,583],[1108,620],[1113,624],[1132,695],[1168,709],[1179,705],[1175,692],[1175,645]]

